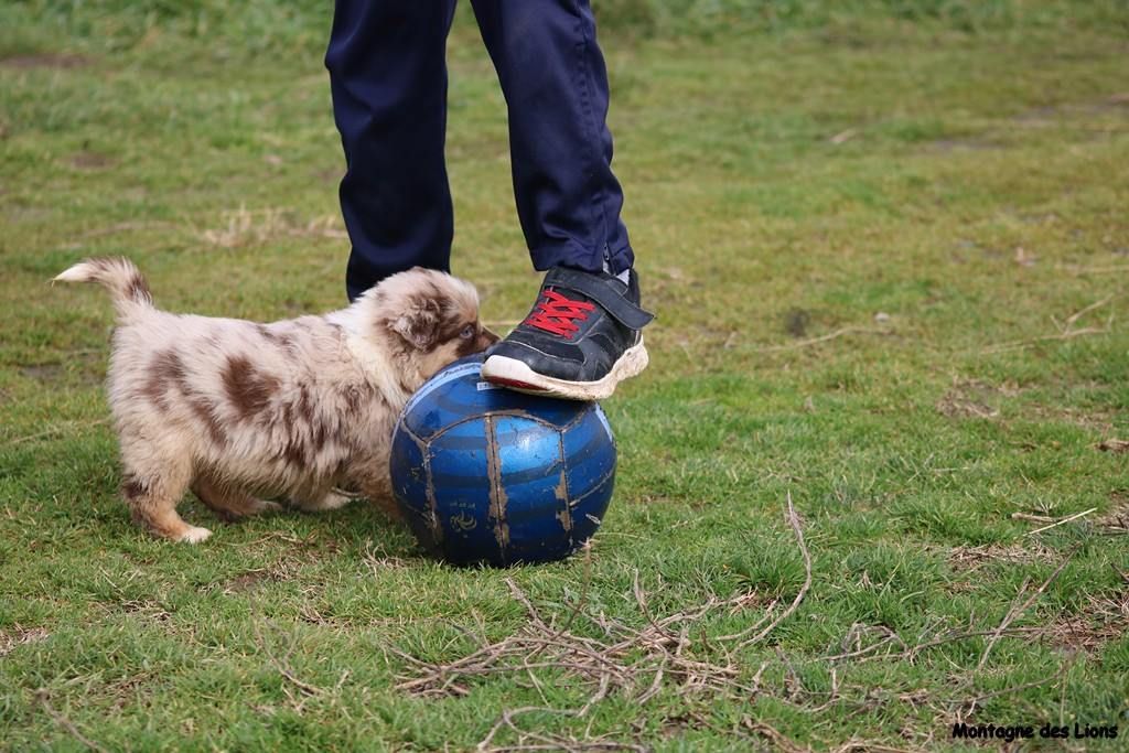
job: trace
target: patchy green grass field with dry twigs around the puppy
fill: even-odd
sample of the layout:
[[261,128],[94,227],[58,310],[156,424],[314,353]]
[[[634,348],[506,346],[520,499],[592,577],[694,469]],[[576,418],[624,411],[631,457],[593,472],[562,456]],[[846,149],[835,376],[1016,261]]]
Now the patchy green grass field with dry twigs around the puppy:
[[[1127,747],[1123,2],[607,3],[651,367],[590,552],[506,571],[364,504],[130,523],[111,306],[46,281],[343,304],[325,11],[222,5],[0,9],[0,748]],[[466,10],[455,272],[505,329],[537,277]]]

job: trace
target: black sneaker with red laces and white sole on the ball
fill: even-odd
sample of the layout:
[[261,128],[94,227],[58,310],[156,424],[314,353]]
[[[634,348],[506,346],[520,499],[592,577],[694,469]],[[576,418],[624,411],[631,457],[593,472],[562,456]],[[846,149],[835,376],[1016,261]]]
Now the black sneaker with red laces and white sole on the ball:
[[537,304],[491,348],[482,378],[518,392],[603,400],[647,367],[640,330],[653,318],[639,307],[639,277],[628,284],[606,272],[558,266],[541,283]]

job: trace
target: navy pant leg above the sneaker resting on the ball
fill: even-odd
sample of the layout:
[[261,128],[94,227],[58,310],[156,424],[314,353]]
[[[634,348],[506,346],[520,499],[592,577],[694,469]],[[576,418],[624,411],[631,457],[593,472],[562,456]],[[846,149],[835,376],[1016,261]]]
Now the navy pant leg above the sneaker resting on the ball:
[[633,262],[612,174],[607,70],[588,0],[472,0],[509,110],[517,213],[534,268]]

